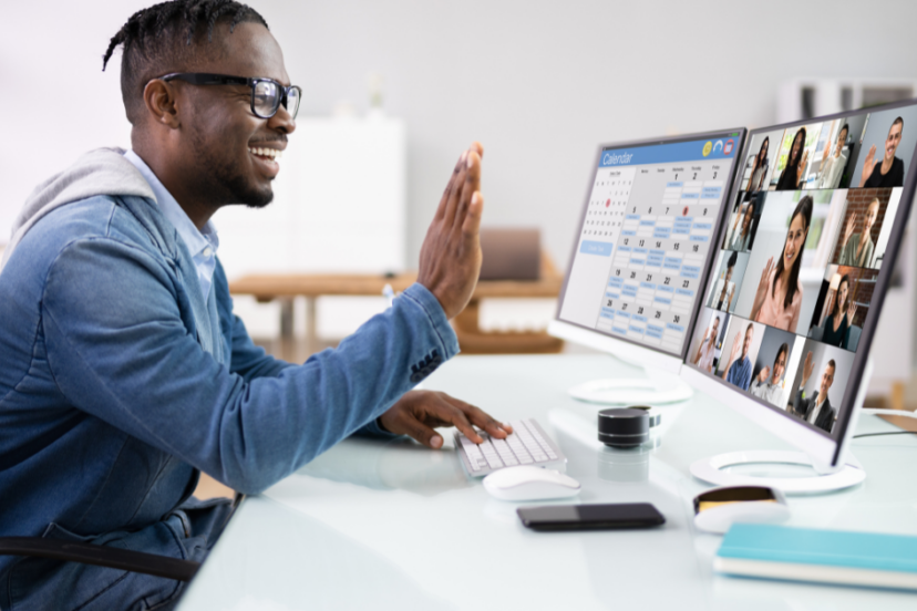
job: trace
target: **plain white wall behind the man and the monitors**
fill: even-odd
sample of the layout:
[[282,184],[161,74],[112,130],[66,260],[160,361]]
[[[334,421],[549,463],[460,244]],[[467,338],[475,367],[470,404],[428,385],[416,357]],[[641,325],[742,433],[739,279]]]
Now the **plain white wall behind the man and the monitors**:
[[[128,144],[117,56],[103,73],[101,55],[152,2],[4,7],[0,240],[35,183],[85,149]],[[367,74],[383,74],[385,107],[408,124],[409,263],[473,138],[487,147],[485,221],[540,226],[563,265],[599,142],[772,123],[777,83],[801,74],[917,76],[917,3],[906,1],[866,13],[847,0],[253,6],[305,89],[303,112],[342,99],[362,111]]]

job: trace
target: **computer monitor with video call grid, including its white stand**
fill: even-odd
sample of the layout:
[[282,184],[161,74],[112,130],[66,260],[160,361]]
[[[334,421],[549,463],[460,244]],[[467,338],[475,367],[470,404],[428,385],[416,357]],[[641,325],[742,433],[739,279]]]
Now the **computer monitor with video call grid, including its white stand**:
[[[820,473],[842,474],[782,480],[786,491],[865,477],[844,468],[844,454],[914,199],[915,148],[909,101],[754,130],[742,151],[681,376],[802,449]],[[692,473],[731,483],[719,468],[728,464]]]

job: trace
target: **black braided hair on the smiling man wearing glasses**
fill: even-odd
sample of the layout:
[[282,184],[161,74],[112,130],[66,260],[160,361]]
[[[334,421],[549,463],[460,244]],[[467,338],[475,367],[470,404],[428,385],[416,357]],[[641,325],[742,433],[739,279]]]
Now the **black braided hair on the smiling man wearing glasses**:
[[[187,70],[195,58],[202,56],[198,46],[205,42],[204,33],[206,42],[213,42],[214,28],[219,21],[229,22],[229,33],[239,23],[268,27],[255,9],[231,0],[169,0],[131,15],[102,55],[104,71],[115,48],[122,45],[121,96],[127,121],[136,125],[144,116],[146,83],[169,72]],[[206,30],[199,30],[198,25],[206,25]]]

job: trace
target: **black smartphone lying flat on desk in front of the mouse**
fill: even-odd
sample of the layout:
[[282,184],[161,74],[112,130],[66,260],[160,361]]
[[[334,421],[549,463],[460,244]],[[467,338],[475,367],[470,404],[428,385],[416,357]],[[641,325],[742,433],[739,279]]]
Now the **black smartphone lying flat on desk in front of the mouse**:
[[519,507],[519,519],[533,530],[599,530],[648,528],[666,524],[666,518],[649,503],[610,505],[545,505]]

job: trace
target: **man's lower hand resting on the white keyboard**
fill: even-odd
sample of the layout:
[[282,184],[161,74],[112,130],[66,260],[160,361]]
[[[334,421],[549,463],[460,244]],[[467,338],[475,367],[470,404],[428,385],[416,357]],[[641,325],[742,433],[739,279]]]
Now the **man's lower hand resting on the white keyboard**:
[[468,439],[480,444],[484,439],[474,431],[476,425],[492,437],[505,439],[513,428],[501,424],[474,405],[433,391],[411,391],[379,418],[389,433],[409,435],[426,447],[443,447],[443,437],[433,431],[437,426],[455,426]]

